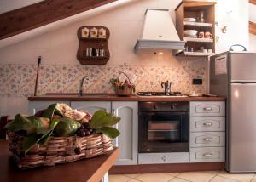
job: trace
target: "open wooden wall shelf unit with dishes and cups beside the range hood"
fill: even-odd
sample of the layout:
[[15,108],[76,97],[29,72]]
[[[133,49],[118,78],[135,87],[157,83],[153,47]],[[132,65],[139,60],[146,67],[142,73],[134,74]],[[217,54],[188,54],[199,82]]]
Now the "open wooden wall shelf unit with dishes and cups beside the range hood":
[[176,29],[188,56],[208,56],[215,53],[215,3],[183,0],[175,9]]

